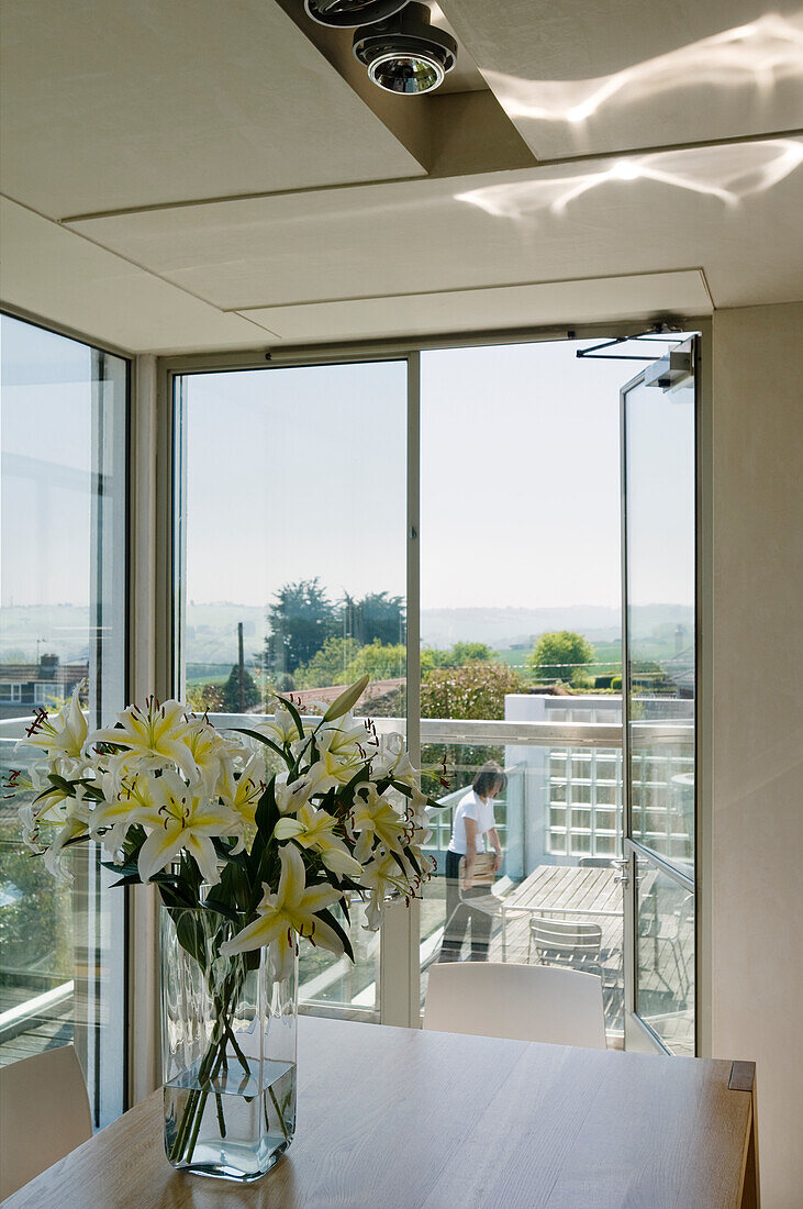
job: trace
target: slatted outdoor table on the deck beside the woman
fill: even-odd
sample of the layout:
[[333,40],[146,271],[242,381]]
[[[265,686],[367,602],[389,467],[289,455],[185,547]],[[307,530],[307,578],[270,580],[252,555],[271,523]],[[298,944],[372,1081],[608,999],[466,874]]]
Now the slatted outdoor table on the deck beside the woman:
[[508,915],[593,920],[603,929],[603,949],[622,947],[622,887],[616,869],[572,864],[540,864],[507,897],[500,899],[502,961],[507,955]]

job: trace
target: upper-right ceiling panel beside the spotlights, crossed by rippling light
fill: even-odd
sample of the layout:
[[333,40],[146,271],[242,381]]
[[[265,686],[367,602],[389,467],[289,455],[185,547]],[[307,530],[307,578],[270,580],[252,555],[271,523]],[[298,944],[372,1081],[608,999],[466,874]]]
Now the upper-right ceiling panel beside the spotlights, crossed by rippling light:
[[803,126],[801,0],[444,0],[540,158]]

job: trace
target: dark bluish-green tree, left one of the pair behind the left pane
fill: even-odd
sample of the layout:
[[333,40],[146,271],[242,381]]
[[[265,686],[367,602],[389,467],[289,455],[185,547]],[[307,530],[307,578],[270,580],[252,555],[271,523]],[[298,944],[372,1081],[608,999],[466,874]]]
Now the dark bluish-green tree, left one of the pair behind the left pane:
[[274,676],[308,664],[338,629],[338,611],[318,577],[285,584],[268,606],[266,671]]

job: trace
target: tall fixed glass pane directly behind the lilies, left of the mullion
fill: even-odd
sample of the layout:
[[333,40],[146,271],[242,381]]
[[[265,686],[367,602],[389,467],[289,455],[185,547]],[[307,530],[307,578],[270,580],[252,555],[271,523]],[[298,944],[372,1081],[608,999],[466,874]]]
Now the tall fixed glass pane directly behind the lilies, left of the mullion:
[[[188,375],[176,400],[188,704],[235,724],[279,690],[313,715],[368,672],[355,712],[405,730],[406,361]],[[356,903],[354,967],[303,945],[302,1003],[376,1016],[363,922]]]

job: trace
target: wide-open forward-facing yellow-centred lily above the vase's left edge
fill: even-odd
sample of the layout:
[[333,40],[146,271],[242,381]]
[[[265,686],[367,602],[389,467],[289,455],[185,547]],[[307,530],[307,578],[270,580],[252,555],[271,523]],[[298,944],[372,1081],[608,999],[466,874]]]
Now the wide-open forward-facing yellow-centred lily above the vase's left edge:
[[149,881],[176,852],[186,849],[196,858],[204,880],[214,885],[220,877],[211,838],[237,835],[239,820],[228,806],[209,802],[202,781],[186,785],[175,773],[153,777],[151,792],[153,806],[140,818],[153,828],[139,851],[142,881]]

